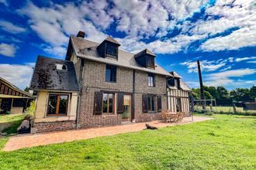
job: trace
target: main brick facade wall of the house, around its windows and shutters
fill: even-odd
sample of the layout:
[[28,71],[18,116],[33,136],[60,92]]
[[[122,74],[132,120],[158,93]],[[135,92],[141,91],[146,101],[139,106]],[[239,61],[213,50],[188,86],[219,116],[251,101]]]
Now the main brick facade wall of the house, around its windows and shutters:
[[[133,92],[133,70],[117,67],[116,83],[106,83],[106,64],[85,60],[83,77],[83,87],[81,90],[80,107],[80,128],[90,128],[96,126],[108,126],[121,124],[120,114],[94,115],[95,91],[122,91]],[[156,75],[156,87],[148,87],[148,73],[136,70],[134,108],[137,122],[153,121],[161,119],[161,114],[145,114],[142,111],[142,95],[144,93],[154,93],[162,96],[162,109],[167,109],[166,79],[165,76]]]

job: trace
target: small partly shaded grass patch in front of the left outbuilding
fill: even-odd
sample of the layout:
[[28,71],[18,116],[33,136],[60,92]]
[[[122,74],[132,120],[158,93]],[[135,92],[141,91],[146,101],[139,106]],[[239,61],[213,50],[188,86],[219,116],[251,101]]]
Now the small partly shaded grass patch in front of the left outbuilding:
[[0,131],[7,134],[14,134],[22,123],[25,114],[5,114],[0,115]]

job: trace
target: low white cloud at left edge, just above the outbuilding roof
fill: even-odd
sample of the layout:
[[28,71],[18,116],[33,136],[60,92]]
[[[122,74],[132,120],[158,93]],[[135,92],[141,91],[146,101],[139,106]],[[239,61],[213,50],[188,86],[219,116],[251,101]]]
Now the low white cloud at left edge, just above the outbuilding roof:
[[[24,89],[29,86],[33,73],[34,63],[19,64],[0,64],[0,76],[17,87]],[[10,71],[15,70],[15,71]]]

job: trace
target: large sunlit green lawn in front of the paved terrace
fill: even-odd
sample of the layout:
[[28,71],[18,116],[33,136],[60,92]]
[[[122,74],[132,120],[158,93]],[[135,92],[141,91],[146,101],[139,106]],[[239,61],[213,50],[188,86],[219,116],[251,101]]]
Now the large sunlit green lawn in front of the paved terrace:
[[[255,169],[256,117],[0,151],[1,169]],[[7,138],[0,139],[3,147]]]

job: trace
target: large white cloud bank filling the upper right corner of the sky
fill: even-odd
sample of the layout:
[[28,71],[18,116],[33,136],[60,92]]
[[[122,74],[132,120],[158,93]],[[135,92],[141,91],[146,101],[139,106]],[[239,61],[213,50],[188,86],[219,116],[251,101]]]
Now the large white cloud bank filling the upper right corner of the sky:
[[[206,9],[209,15],[222,17],[218,20],[206,21],[200,26],[195,26],[192,32],[217,33],[225,29],[238,27],[227,36],[218,36],[202,43],[200,49],[205,51],[221,51],[240,49],[247,46],[256,46],[256,5],[254,0],[217,1],[216,5]],[[230,5],[232,4],[232,5]],[[199,27],[198,29],[196,29]],[[207,27],[211,28],[207,31]]]

